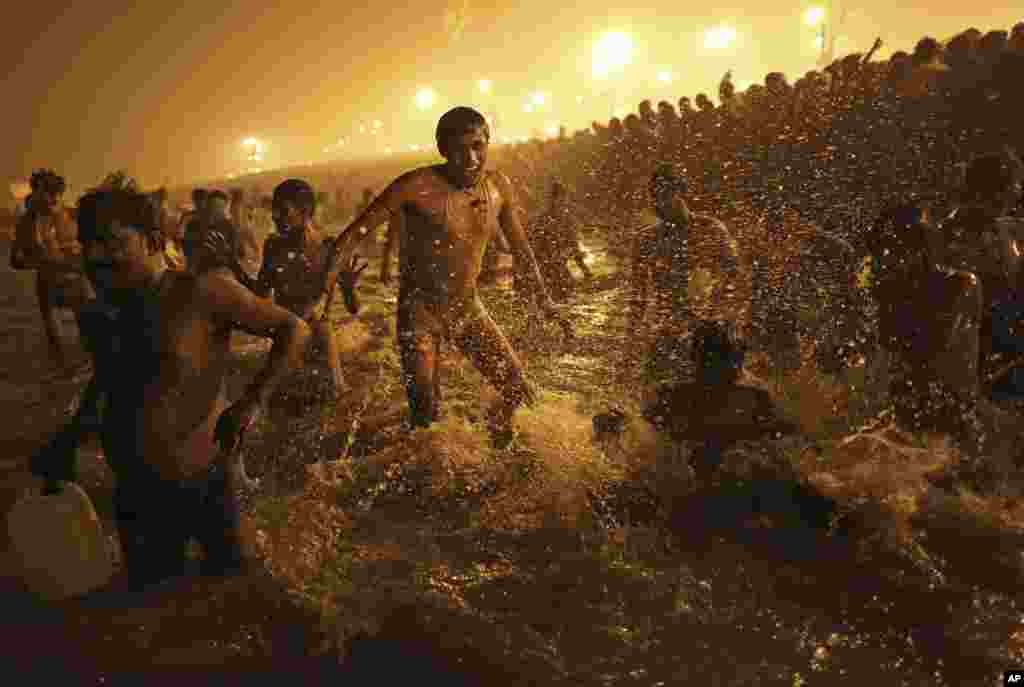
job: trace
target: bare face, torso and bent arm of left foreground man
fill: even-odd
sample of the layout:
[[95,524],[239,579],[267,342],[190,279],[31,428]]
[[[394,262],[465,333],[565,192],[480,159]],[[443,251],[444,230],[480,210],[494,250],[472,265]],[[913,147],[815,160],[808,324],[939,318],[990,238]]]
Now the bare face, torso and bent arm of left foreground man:
[[[301,360],[308,327],[258,298],[227,268],[200,275],[166,270],[162,247],[114,221],[83,242],[86,267],[120,308],[97,361],[109,395],[101,435],[112,464],[139,460],[165,479],[190,477],[232,454],[281,380]],[[224,379],[236,329],[273,339],[266,367],[227,407]]]

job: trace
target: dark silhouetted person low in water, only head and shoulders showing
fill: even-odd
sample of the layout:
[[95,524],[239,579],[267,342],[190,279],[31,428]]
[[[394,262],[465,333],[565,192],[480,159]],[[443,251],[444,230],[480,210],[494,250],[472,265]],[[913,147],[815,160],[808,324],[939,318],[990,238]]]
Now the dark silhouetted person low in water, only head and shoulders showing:
[[799,431],[771,394],[737,383],[745,351],[726,325],[700,323],[693,334],[691,356],[696,382],[663,386],[643,416],[676,441],[703,444],[691,459],[698,479],[712,478],[725,450],[737,441]]

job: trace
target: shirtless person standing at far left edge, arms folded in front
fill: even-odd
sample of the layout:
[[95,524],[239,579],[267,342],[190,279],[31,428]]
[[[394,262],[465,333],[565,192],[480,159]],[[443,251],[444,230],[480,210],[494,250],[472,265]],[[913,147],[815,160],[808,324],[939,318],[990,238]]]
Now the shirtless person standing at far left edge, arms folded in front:
[[39,170],[32,175],[31,186],[32,201],[15,229],[10,266],[36,270],[36,297],[50,354],[65,367],[68,357],[60,342],[57,310],[70,308],[77,317],[95,294],[82,271],[75,221],[60,204],[63,177],[51,170]]

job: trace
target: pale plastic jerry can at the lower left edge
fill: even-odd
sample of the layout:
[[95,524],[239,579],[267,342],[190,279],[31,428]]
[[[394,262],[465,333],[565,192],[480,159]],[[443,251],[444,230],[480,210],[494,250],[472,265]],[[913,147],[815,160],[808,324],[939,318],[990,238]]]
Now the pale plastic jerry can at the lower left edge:
[[14,562],[25,585],[47,601],[91,592],[114,572],[89,497],[74,482],[58,487],[55,493],[30,490],[7,516]]

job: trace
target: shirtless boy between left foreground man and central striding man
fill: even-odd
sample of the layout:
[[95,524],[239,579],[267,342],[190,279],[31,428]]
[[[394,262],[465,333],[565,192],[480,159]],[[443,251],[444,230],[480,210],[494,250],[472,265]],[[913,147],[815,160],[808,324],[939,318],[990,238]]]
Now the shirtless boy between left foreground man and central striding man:
[[[288,179],[280,183],[273,189],[272,207],[279,235],[267,239],[253,291],[260,297],[272,298],[309,325],[314,341],[327,356],[333,391],[340,394],[345,381],[327,294],[334,242],[313,222],[316,196],[305,181]],[[337,272],[333,278],[337,281]]]

